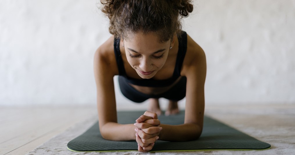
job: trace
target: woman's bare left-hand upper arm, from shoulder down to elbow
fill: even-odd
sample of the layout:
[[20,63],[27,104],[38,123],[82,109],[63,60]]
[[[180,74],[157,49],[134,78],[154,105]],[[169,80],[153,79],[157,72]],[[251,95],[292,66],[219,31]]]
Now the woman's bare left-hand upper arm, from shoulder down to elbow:
[[94,77],[97,89],[97,109],[100,128],[108,122],[117,122],[113,77],[117,67],[114,56],[102,45],[94,54]]

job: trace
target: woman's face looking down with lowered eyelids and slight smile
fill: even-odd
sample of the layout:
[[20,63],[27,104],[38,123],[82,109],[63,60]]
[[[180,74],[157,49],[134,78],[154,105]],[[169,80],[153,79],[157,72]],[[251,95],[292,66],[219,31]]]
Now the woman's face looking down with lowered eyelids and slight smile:
[[150,79],[164,66],[174,41],[159,43],[154,33],[130,34],[123,41],[127,61],[143,79]]

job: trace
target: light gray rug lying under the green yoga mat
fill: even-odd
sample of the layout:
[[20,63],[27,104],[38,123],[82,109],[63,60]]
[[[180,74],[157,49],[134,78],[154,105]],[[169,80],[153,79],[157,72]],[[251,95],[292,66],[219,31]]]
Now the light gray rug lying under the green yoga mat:
[[[210,113],[210,112],[209,112]],[[220,114],[222,115],[222,114]],[[250,115],[249,115],[250,116]],[[253,115],[252,115],[253,117]],[[257,115],[261,119],[261,115]],[[271,116],[270,116],[271,117]],[[227,118],[226,115],[223,118]],[[233,118],[231,118],[233,119]],[[85,132],[89,127],[91,127],[96,121],[97,116],[93,117],[81,122],[77,123],[71,128],[68,128],[65,132],[53,137],[42,145],[38,146],[36,149],[29,152],[27,155],[36,155],[36,154],[65,154],[65,155],[80,155],[80,154],[124,154],[124,155],[133,155],[133,154],[157,154],[157,155],[170,155],[170,154],[206,154],[206,155],[220,155],[220,154],[253,154],[253,155],[275,155],[275,154],[295,154],[295,139],[294,139],[294,124],[288,127],[280,128],[279,126],[267,126],[270,125],[268,122],[271,122],[268,118],[265,118],[265,124],[261,124],[260,126],[247,126],[247,122],[245,124],[240,125],[237,129],[241,128],[242,131],[248,133],[250,136],[253,136],[261,141],[265,141],[270,143],[272,148],[264,151],[188,151],[188,152],[157,152],[157,153],[140,153],[138,151],[131,152],[72,152],[67,149],[67,143],[71,141],[73,138],[79,136],[83,132]],[[294,115],[287,115],[286,119],[295,119]],[[253,120],[255,121],[255,120]],[[235,123],[235,121],[233,121]],[[229,123],[227,123],[229,124]],[[251,123],[250,123],[251,124]],[[273,123],[271,123],[273,124]],[[231,125],[231,124],[229,124]],[[268,130],[270,129],[271,130]],[[273,130],[278,128],[280,130]],[[289,133],[289,136],[281,136],[280,133]],[[253,133],[253,134],[250,134]]]

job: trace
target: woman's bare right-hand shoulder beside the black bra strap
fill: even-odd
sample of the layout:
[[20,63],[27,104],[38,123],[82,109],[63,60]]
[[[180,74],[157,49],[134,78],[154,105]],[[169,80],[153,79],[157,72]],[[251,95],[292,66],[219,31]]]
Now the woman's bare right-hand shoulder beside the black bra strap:
[[204,74],[206,76],[206,56],[204,50],[187,35],[187,50],[183,61],[181,75]]

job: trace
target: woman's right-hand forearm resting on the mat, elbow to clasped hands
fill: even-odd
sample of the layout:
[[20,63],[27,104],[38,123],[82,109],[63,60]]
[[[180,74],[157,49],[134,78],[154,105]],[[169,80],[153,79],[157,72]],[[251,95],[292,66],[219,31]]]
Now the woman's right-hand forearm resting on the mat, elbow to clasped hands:
[[160,132],[159,140],[163,141],[191,141],[199,138],[202,128],[193,123],[181,125],[160,125],[163,129]]

